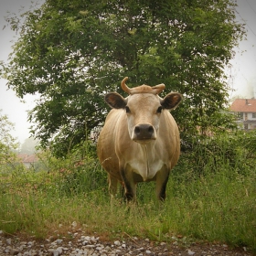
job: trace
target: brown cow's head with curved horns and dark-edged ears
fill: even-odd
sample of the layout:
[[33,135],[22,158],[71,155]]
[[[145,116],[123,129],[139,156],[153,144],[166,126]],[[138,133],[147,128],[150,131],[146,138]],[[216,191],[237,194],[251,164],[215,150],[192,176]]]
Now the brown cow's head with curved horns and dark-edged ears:
[[162,99],[158,93],[165,89],[164,84],[154,87],[142,85],[131,89],[125,84],[126,80],[127,77],[123,79],[121,86],[130,95],[124,99],[119,93],[110,92],[105,95],[105,101],[113,109],[123,109],[126,112],[128,131],[133,141],[144,144],[155,140],[162,112],[176,108],[182,95],[170,92]]

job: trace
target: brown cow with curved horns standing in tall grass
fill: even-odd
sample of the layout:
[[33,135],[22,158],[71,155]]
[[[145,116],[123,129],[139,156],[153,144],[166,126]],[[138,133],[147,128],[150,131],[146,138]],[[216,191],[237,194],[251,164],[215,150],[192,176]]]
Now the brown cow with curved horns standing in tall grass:
[[179,132],[168,110],[176,108],[182,95],[170,92],[164,99],[158,93],[164,84],[142,85],[130,89],[124,78],[123,98],[117,92],[105,95],[112,107],[101,130],[97,153],[108,172],[109,191],[116,194],[118,181],[123,183],[128,200],[136,197],[136,184],[156,181],[156,195],[165,199],[165,187],[170,170],[180,155]]

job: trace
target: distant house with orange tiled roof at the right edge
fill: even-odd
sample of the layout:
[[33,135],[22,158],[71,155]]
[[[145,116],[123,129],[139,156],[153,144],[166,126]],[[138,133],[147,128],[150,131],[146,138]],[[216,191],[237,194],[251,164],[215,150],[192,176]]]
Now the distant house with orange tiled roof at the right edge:
[[256,99],[236,99],[231,104],[230,111],[237,114],[240,129],[256,129]]

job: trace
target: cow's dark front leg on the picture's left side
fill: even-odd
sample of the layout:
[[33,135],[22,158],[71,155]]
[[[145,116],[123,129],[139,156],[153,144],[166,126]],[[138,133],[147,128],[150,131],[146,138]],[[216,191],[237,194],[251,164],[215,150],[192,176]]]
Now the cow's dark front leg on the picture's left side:
[[136,200],[136,184],[133,180],[133,172],[129,168],[121,169],[121,176],[123,178],[123,185],[125,189],[125,199],[127,201]]

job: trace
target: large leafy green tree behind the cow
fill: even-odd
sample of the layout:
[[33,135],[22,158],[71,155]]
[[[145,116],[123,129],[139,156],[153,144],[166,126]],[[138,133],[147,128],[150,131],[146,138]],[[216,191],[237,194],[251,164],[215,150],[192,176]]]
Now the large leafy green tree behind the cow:
[[[244,35],[232,0],[46,0],[19,23],[5,79],[18,97],[37,93],[32,132],[59,153],[103,123],[106,91],[165,83],[185,100],[173,112],[183,133],[225,121],[223,69]],[[123,92],[121,92],[123,93]]]

